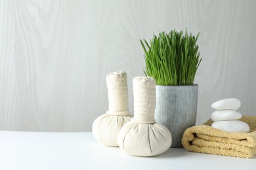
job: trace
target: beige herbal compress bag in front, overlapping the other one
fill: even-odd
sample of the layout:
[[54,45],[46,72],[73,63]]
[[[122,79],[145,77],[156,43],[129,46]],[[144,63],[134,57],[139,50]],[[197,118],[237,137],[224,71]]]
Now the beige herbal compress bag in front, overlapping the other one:
[[150,77],[133,78],[134,118],[119,132],[121,150],[133,156],[156,156],[171,146],[171,133],[156,123],[156,80]]

